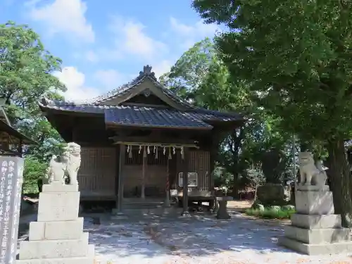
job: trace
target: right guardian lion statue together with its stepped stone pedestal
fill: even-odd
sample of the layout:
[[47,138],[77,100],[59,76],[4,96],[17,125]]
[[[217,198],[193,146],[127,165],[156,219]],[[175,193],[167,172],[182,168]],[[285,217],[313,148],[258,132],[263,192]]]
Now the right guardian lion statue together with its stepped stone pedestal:
[[321,162],[314,163],[310,152],[299,153],[298,162],[301,180],[295,188],[296,213],[278,244],[308,255],[350,252],[350,230],[341,227],[341,215],[334,214]]

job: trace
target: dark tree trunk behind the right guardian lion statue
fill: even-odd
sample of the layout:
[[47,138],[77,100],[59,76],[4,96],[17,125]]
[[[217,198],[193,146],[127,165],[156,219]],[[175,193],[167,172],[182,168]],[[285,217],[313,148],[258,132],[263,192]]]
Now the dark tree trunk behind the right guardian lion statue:
[[329,168],[329,180],[332,187],[335,213],[341,214],[342,225],[344,227],[351,227],[351,172],[346,157],[344,140],[334,139],[329,141],[327,151],[329,152],[327,165]]

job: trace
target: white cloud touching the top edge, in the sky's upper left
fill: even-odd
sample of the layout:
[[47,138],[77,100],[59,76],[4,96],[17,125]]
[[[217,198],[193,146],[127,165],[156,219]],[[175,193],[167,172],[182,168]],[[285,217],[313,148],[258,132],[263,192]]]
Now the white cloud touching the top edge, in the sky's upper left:
[[39,5],[42,1],[33,1],[30,18],[46,25],[49,34],[68,34],[74,39],[94,42],[92,25],[85,18],[87,4],[81,0],[55,0],[50,4]]

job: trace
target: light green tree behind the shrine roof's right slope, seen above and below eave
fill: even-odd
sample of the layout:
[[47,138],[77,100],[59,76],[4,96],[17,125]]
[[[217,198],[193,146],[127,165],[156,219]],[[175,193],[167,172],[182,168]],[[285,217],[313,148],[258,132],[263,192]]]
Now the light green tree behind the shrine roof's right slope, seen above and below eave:
[[[244,84],[230,83],[227,67],[217,56],[210,39],[194,44],[172,66],[170,73],[161,77],[161,81],[194,105],[212,110],[244,111],[251,103]],[[223,142],[218,142],[220,152],[216,160],[232,175],[235,192],[238,188],[239,153],[244,130],[244,127],[240,127]]]

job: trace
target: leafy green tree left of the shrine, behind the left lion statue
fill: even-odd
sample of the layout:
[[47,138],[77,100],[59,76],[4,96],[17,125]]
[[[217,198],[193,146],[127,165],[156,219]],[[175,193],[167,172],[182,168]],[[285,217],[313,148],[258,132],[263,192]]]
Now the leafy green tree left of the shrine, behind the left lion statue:
[[13,22],[0,25],[0,98],[6,99],[6,112],[13,127],[37,142],[25,151],[28,180],[34,175],[42,176],[49,154],[61,146],[61,138],[37,104],[44,94],[54,99],[58,98],[55,90],[65,91],[65,86],[52,75],[57,70],[61,70],[61,60],[44,49],[36,32]]

